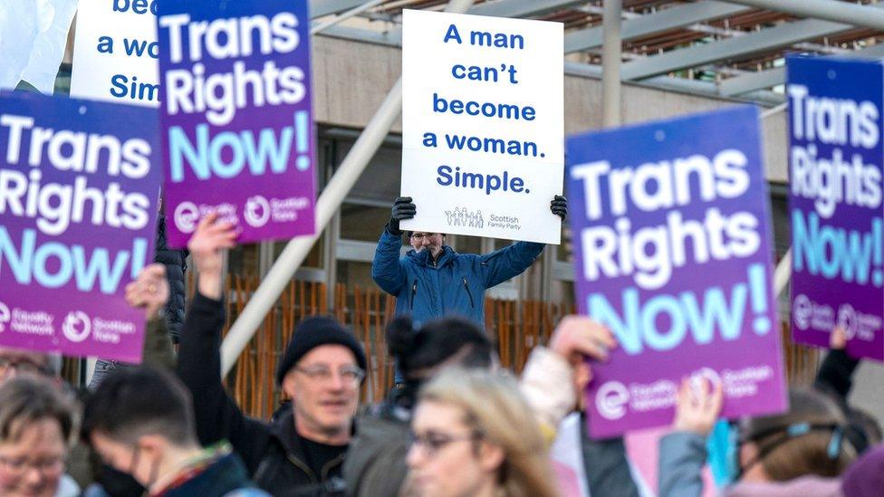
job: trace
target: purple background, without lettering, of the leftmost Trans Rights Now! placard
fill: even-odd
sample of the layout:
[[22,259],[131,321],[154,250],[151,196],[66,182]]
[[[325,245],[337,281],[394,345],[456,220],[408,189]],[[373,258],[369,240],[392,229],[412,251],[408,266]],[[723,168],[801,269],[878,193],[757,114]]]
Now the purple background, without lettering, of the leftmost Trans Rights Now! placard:
[[[140,261],[139,265],[149,263],[154,251],[162,174],[157,154],[156,129],[159,129],[157,110],[86,100],[50,98],[31,93],[0,93],[0,112],[33,117],[34,126],[56,131],[71,129],[74,132],[113,135],[120,141],[139,138],[149,143],[152,150],[151,167],[146,177],[130,179],[122,175],[110,177],[100,173],[84,175],[88,178],[88,186],[103,190],[113,181],[120,184],[120,190],[123,192],[140,192],[147,196],[150,200],[149,222],[144,228],[131,231],[108,225],[91,225],[86,221],[72,223],[67,231],[57,236],[43,234],[39,230],[36,236],[36,246],[48,242],[59,242],[68,247],[74,244],[82,245],[87,258],[95,249],[105,248],[111,254],[111,261],[119,251],[131,251],[133,240],[139,237],[147,241],[145,260]],[[18,171],[29,170],[26,155],[24,164],[22,161],[15,165],[5,163],[6,148],[9,145],[7,131],[6,128],[0,128],[0,167]],[[30,135],[30,132],[26,132],[24,139],[29,140]],[[45,154],[40,170],[43,172],[42,184],[49,182],[72,184],[74,178],[79,176],[75,172],[61,171],[51,166]],[[87,208],[85,215],[88,219],[91,216],[91,209]],[[8,212],[0,215],[0,222],[9,231],[16,246],[21,246],[24,230],[36,226],[34,219],[17,217]],[[58,259],[51,257],[49,261],[49,271],[56,271],[60,265]],[[98,289],[81,292],[76,288],[73,279],[61,288],[44,288],[35,280],[30,284],[17,282],[5,259],[0,260],[0,301],[3,301],[10,310],[19,308],[23,311],[47,312],[53,315],[55,325],[53,336],[43,336],[14,333],[9,330],[7,324],[6,330],[0,333],[0,345],[42,352],[61,352],[66,356],[98,356],[124,362],[140,362],[144,344],[144,311],[130,308],[125,301],[125,286],[131,280],[130,271],[124,271],[120,285],[111,295],[101,293]],[[91,336],[79,343],[72,342],[64,337],[61,330],[64,317],[71,311],[83,311],[92,319],[130,322],[135,326],[135,333],[120,335],[118,344],[96,341]]]

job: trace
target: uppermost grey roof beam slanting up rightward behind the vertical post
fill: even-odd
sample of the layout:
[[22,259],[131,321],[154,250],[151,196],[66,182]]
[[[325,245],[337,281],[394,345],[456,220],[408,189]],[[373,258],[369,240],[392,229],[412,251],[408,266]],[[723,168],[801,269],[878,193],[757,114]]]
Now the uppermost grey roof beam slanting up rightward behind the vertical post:
[[[750,10],[752,10],[751,7],[715,1],[679,5],[661,10],[656,14],[642,15],[636,19],[623,21],[620,38],[622,40],[632,40],[690,24],[703,23],[728,15],[741,14]],[[604,33],[600,26],[567,33],[565,34],[565,53],[581,52],[599,47],[603,39]]]

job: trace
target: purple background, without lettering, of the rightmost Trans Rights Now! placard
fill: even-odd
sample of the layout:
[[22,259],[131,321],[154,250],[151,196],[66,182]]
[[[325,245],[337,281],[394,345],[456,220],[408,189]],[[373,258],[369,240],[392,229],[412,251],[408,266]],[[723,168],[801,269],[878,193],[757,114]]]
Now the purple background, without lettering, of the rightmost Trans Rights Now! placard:
[[[789,57],[786,71],[789,84],[802,84],[808,88],[810,96],[829,97],[834,99],[870,100],[884,114],[884,70],[881,62],[844,61],[837,59],[817,59],[812,57]],[[831,72],[831,73],[830,73]],[[830,77],[833,76],[833,77]],[[791,102],[790,102],[791,103]],[[793,115],[788,112],[789,119],[789,143],[790,160],[792,158],[792,146],[803,146],[813,143],[817,147],[817,157],[831,158],[831,152],[835,146],[820,141],[808,141],[807,139],[795,139],[792,133]],[[884,130],[884,115],[879,115],[879,132]],[[854,154],[860,154],[863,162],[879,169],[884,166],[884,152],[881,144],[873,149],[851,147],[850,143],[840,147],[844,152],[844,158],[850,159]],[[790,167],[789,177],[792,178]],[[809,213],[814,212],[813,199],[794,196],[790,190],[789,195],[789,219],[791,222],[793,210],[804,213],[805,220]],[[829,218],[820,218],[820,226],[836,226],[848,231],[860,233],[871,232],[871,222],[874,218],[881,218],[881,206],[870,209],[858,205],[838,204],[835,214]],[[791,224],[791,223],[790,223]],[[795,261],[793,244],[793,262]],[[872,265],[871,270],[876,268]],[[880,268],[878,268],[880,269]],[[802,271],[792,272],[792,295],[790,302],[794,301],[799,294],[807,295],[814,302],[829,305],[835,311],[837,319],[838,309],[841,304],[848,303],[856,311],[884,318],[884,290],[875,287],[871,283],[859,284],[845,282],[841,278],[827,279],[822,274],[813,275],[806,267]],[[829,347],[831,330],[817,330],[813,326],[801,330],[792,320],[792,336],[796,343],[803,343],[815,347]],[[872,340],[863,340],[856,337],[850,339],[847,351],[857,358],[875,358],[884,360],[884,332],[878,330]]]

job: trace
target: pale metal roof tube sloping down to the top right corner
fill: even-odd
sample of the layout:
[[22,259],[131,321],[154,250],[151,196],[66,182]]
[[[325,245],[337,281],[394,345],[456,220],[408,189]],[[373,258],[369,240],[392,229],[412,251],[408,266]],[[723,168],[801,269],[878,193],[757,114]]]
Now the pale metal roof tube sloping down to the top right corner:
[[732,4],[749,5],[801,17],[825,19],[884,31],[884,11],[871,5],[857,5],[838,0],[728,0]]

